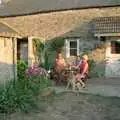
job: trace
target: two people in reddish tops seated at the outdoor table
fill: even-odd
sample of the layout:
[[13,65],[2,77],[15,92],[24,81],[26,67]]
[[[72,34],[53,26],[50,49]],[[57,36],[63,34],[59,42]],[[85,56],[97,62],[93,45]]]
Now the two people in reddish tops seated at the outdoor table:
[[[61,74],[61,71],[64,68],[67,68],[70,66],[71,68],[78,69],[78,72],[75,74],[75,80],[78,81],[81,78],[86,78],[88,75],[88,56],[83,55],[80,59],[80,56],[76,56],[76,60],[73,62],[72,65],[69,65],[65,62],[64,58],[62,57],[61,53],[58,53],[55,59],[55,71]],[[82,85],[85,87],[85,82],[82,83]]]

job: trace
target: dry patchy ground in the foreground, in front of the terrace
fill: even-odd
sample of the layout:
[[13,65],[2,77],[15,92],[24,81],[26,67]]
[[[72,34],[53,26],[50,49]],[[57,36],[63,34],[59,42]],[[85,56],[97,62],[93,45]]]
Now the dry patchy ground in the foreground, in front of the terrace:
[[1,115],[0,120],[120,120],[120,99],[82,93],[61,93],[41,110]]

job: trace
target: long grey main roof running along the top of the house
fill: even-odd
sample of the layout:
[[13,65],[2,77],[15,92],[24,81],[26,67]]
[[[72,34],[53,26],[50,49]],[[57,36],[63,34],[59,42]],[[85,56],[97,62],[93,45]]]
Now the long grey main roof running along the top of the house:
[[120,5],[120,0],[3,0],[3,1],[8,2],[0,7],[0,16],[16,16],[57,10]]

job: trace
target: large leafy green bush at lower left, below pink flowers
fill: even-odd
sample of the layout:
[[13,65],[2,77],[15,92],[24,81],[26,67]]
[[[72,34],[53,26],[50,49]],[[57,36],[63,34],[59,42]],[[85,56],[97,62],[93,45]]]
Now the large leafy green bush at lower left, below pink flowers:
[[16,110],[29,112],[37,108],[37,97],[41,90],[51,85],[45,77],[24,77],[11,80],[5,86],[0,86],[0,113],[11,113]]

